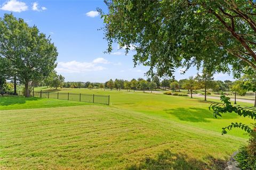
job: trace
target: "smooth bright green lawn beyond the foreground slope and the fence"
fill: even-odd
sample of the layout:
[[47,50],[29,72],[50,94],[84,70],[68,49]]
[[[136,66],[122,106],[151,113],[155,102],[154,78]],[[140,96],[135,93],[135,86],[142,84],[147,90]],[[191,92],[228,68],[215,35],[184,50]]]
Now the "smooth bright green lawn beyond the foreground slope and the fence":
[[[49,91],[45,87],[36,90]],[[53,92],[56,90],[53,90]],[[239,117],[235,114],[225,114],[221,119],[215,119],[212,111],[209,111],[209,102],[205,102],[203,98],[190,99],[189,97],[167,96],[163,94],[150,94],[138,91],[126,90],[89,90],[89,89],[58,89],[61,92],[73,92],[82,94],[99,94],[110,95],[111,107],[125,109],[127,111],[137,111],[158,117],[164,117],[167,120],[179,123],[190,124],[198,128],[221,132],[223,126],[229,125],[231,122],[252,123],[253,120]],[[209,99],[211,101],[219,101]],[[240,105],[253,106],[249,103],[239,103]],[[239,129],[230,131],[230,134],[238,137],[247,138],[244,132]]]

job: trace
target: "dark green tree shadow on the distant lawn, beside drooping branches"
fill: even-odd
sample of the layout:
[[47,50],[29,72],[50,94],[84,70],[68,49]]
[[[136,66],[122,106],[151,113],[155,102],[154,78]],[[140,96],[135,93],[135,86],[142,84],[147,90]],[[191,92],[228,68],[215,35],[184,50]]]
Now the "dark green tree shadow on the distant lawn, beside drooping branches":
[[[210,122],[208,119],[215,119],[213,117],[213,111],[209,109],[189,107],[189,108],[175,108],[175,109],[165,109],[168,114],[172,114],[175,117],[178,117],[181,121],[187,122]],[[235,118],[237,115],[227,113],[223,115],[222,119],[231,119]]]

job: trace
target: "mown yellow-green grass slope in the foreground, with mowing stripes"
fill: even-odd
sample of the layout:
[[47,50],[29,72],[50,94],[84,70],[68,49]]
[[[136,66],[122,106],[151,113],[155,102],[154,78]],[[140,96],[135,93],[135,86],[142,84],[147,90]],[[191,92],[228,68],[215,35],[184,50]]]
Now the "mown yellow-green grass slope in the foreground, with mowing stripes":
[[215,169],[245,142],[99,105],[1,111],[0,128],[3,169]]

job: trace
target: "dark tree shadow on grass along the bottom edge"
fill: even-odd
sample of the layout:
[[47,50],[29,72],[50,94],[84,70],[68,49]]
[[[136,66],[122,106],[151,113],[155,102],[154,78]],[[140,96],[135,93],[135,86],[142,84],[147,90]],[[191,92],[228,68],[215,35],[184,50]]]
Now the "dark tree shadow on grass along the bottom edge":
[[207,156],[210,164],[202,162],[194,158],[189,158],[186,154],[173,154],[170,150],[164,150],[158,154],[156,158],[145,158],[139,165],[132,165],[126,167],[126,170],[139,170],[139,169],[204,169],[204,170],[220,170],[226,166],[225,160],[215,159],[212,156]]

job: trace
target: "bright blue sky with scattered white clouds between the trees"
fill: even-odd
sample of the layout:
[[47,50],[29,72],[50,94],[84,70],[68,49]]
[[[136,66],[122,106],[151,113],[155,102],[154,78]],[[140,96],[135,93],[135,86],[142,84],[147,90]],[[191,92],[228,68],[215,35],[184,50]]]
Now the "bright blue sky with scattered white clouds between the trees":
[[[125,56],[124,49],[114,45],[113,53],[103,53],[107,49],[107,41],[103,39],[103,31],[98,30],[103,21],[96,12],[97,7],[107,10],[103,1],[0,0],[0,17],[4,13],[13,13],[50,35],[59,53],[56,70],[65,77],[65,81],[145,78],[147,67],[133,67],[132,54],[135,52]],[[180,69],[174,73],[177,80],[197,73],[194,67],[186,74],[180,74]],[[215,74],[214,79],[233,80],[233,77]]]

